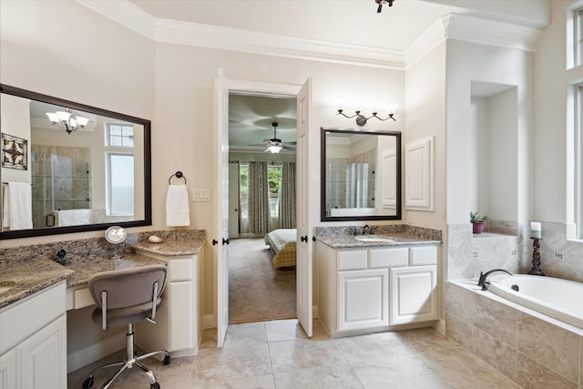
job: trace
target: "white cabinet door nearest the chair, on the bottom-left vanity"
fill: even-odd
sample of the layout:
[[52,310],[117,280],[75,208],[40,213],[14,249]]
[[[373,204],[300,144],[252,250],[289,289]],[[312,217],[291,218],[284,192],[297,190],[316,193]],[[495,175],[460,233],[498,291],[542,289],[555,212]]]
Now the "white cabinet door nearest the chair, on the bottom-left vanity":
[[21,387],[66,388],[66,315],[16,346]]

